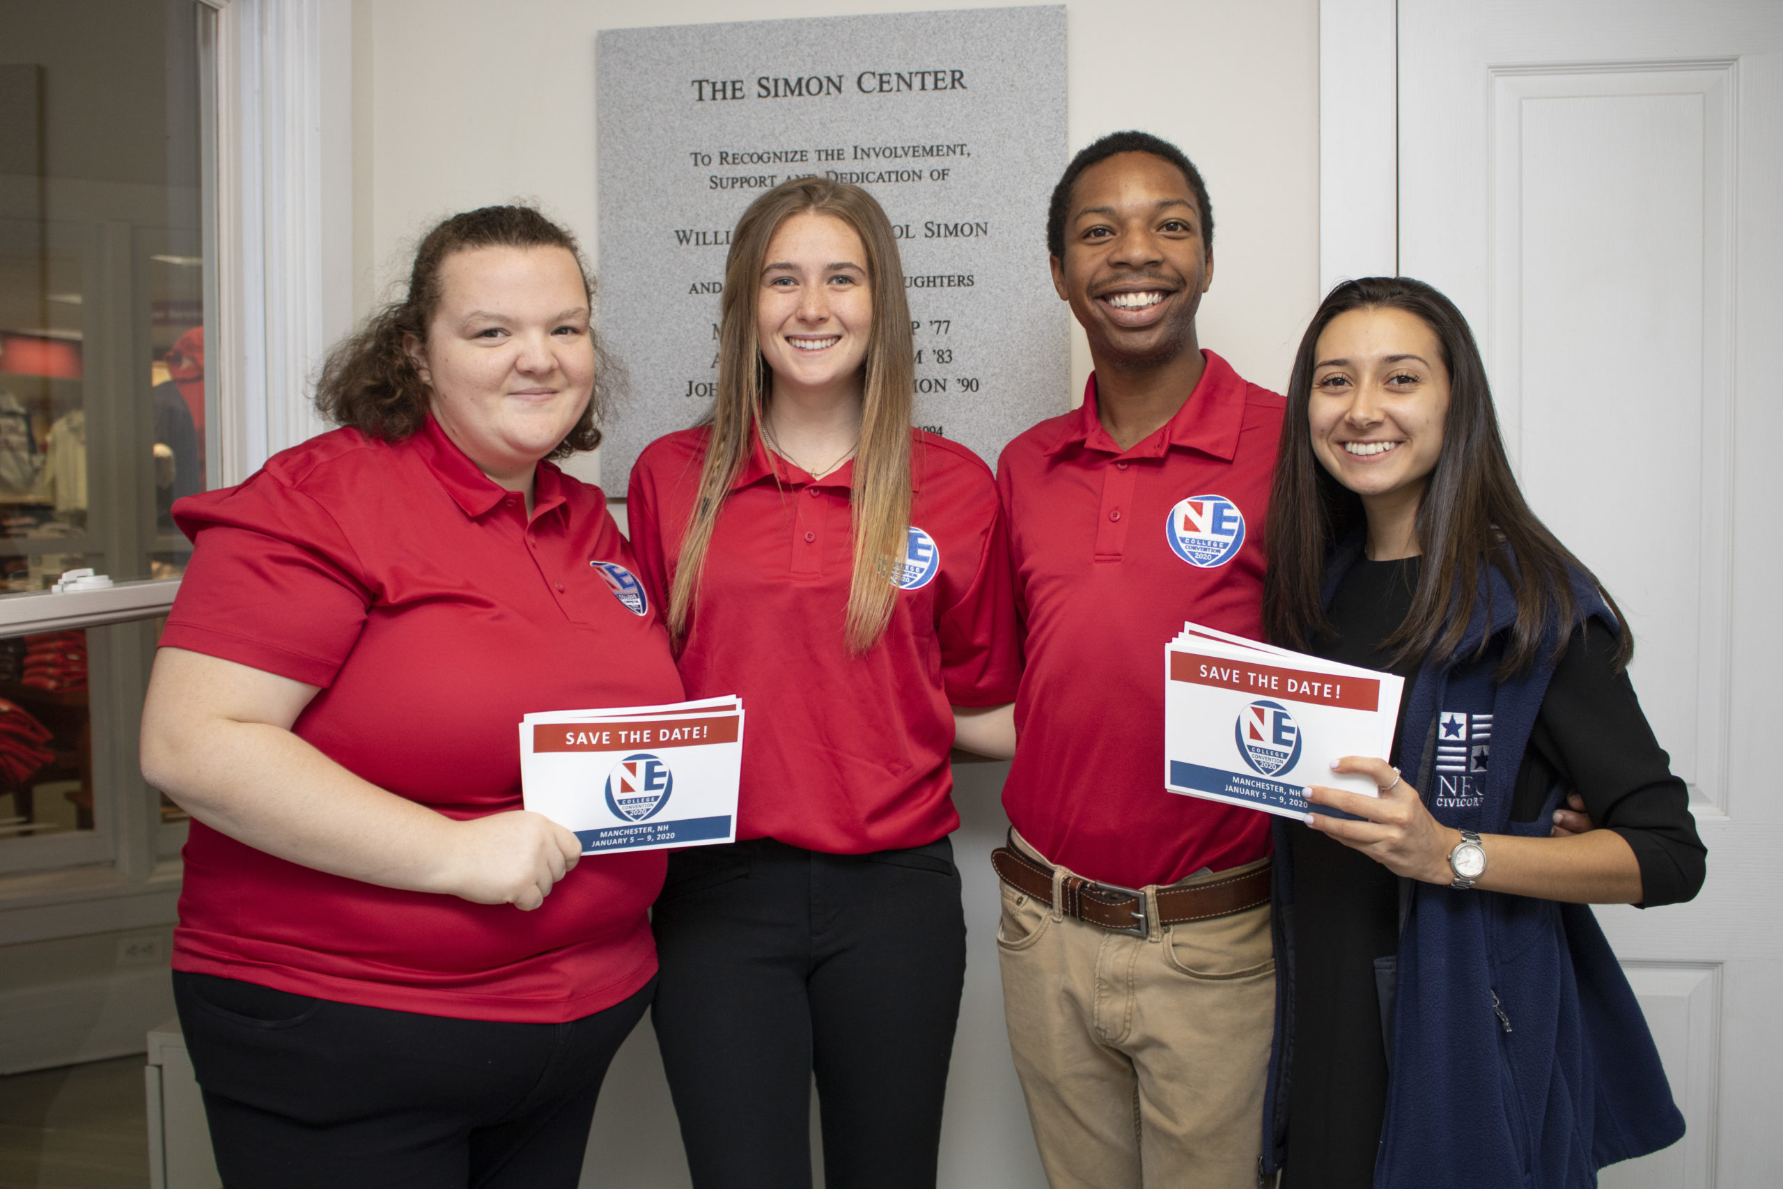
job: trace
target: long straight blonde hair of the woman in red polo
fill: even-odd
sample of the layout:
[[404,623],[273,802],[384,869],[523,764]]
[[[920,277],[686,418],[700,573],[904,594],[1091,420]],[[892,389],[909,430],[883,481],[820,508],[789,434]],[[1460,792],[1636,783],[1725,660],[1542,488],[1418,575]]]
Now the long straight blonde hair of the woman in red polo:
[[827,214],[861,237],[874,316],[867,339],[861,440],[854,455],[854,578],[849,583],[845,633],[849,651],[861,654],[877,644],[892,622],[895,578],[902,569],[909,528],[909,408],[916,385],[915,339],[904,269],[892,221],[872,194],[829,178],[781,182],[752,203],[731,234],[724,262],[724,301],[719,326],[719,392],[711,408],[711,437],[699,472],[699,496],[681,537],[681,562],[669,590],[669,633],[686,635],[699,594],[711,529],[731,483],[761,439],[765,398],[774,376],[756,328],[756,291],[767,264],[768,241],[795,214]]

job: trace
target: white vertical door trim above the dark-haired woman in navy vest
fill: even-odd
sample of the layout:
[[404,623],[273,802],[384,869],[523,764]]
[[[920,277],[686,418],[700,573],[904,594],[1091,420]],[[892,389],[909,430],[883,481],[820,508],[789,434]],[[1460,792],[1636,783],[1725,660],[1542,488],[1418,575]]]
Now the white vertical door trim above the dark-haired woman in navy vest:
[[1400,271],[1396,0],[1319,0],[1319,296]]

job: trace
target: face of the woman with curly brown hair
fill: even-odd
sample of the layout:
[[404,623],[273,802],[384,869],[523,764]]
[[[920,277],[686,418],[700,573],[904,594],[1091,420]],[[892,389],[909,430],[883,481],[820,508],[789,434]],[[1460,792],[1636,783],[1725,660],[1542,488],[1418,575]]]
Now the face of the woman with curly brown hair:
[[467,248],[440,262],[440,301],[410,355],[458,449],[510,490],[594,394],[588,292],[563,248]]

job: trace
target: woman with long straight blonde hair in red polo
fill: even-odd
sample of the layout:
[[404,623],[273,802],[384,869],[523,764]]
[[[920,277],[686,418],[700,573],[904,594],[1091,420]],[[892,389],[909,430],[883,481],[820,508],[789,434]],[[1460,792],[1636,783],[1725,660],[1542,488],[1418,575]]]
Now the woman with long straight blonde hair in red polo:
[[965,977],[950,706],[1015,697],[997,490],[913,431],[892,225],[797,178],[731,235],[708,424],[631,472],[688,697],[740,693],[738,841],[656,902],[653,1020],[699,1189],[933,1185]]

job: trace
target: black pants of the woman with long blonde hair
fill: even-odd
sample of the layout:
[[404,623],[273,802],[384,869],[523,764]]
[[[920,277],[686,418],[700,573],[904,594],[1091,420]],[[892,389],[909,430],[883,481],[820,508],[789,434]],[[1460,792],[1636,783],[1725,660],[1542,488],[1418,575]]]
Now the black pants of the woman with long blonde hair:
[[954,849],[669,856],[651,1020],[695,1189],[934,1185],[966,973]]

